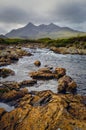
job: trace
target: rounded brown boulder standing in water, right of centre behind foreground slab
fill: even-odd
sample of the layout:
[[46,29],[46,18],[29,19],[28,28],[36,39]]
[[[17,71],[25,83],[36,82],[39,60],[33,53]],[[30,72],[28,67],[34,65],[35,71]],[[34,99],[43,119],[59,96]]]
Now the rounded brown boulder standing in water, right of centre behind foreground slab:
[[75,93],[77,88],[76,82],[69,76],[65,75],[58,80],[58,92],[66,93],[71,92]]

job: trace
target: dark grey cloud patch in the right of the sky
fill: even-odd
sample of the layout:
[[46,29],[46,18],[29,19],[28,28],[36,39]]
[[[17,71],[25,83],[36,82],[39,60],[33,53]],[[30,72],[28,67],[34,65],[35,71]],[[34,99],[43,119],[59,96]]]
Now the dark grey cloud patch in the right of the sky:
[[83,23],[86,21],[86,2],[68,2],[55,8],[52,13],[54,20],[63,20],[69,23]]

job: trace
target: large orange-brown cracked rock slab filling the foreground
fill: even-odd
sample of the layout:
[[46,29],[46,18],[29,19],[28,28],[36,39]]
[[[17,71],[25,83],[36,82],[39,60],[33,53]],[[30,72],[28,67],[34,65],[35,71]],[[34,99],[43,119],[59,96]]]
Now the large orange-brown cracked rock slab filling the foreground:
[[25,95],[11,112],[1,113],[0,130],[86,130],[86,97],[51,91]]

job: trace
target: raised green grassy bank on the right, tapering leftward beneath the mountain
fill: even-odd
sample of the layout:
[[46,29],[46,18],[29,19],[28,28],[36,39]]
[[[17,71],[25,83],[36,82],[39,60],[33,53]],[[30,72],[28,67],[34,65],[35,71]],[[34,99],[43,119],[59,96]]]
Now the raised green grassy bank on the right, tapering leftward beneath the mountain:
[[74,46],[77,48],[86,49],[86,36],[63,38],[63,39],[57,39],[57,40],[47,38],[47,39],[42,39],[42,42],[48,46],[55,46],[55,47]]

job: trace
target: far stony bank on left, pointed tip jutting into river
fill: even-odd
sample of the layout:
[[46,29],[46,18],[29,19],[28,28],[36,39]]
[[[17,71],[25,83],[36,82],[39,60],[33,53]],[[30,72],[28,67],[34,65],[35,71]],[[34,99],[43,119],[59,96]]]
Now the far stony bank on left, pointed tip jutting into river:
[[22,56],[31,56],[32,54],[22,50],[19,47],[1,46],[0,66],[9,65],[19,60]]

